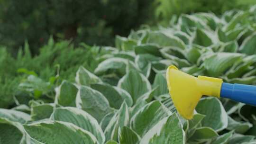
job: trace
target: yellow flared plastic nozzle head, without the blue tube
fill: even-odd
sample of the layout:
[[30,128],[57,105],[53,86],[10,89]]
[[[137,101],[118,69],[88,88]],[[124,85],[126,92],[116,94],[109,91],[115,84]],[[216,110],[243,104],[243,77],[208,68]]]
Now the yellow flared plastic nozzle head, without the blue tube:
[[166,80],[174,106],[186,119],[193,118],[194,109],[202,95],[220,97],[222,79],[194,77],[181,72],[174,65],[168,67]]

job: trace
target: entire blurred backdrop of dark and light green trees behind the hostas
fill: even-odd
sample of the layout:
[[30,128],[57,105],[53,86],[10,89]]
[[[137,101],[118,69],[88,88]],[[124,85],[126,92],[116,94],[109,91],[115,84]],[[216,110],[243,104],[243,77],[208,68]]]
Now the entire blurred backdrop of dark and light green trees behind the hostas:
[[248,7],[256,0],[0,0],[0,45],[16,55],[27,40],[33,55],[49,36],[74,44],[113,45],[142,24],[167,24],[173,15]]

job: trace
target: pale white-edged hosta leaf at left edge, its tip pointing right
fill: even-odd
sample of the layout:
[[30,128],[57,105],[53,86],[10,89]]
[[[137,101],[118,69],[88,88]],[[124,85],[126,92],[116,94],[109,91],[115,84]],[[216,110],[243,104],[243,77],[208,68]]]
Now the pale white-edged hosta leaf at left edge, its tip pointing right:
[[4,108],[0,108],[0,118],[6,118],[9,121],[19,122],[21,124],[25,124],[31,120],[30,116],[24,112]]

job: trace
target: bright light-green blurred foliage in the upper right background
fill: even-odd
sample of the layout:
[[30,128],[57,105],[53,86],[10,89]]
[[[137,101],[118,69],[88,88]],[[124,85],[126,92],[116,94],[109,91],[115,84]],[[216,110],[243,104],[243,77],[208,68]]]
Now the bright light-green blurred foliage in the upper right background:
[[230,9],[247,9],[254,4],[255,0],[155,0],[155,16],[162,20],[163,24],[168,24],[176,18],[174,15],[195,12],[220,15]]

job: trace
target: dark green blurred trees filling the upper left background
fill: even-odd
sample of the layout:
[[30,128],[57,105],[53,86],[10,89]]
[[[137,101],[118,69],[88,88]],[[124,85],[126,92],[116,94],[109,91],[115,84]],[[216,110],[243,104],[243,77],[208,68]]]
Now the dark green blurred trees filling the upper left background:
[[76,44],[113,45],[115,35],[128,35],[131,28],[146,22],[153,14],[152,2],[0,0],[0,44],[16,53],[27,39],[33,54],[38,54],[38,47],[50,35],[55,40],[73,39]]

